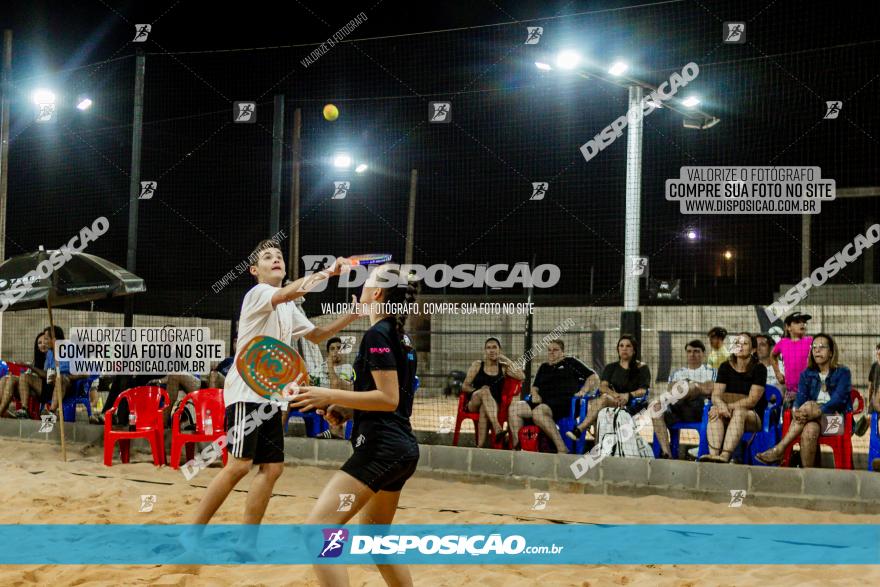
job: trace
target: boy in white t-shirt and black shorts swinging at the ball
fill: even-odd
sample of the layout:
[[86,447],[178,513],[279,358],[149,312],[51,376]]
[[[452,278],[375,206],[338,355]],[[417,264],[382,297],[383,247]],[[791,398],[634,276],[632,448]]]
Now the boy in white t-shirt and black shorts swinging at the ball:
[[[284,257],[278,243],[264,240],[251,255],[250,273],[257,280],[244,297],[238,325],[238,352],[256,336],[271,336],[293,345],[305,338],[314,343],[326,340],[359,316],[341,316],[326,327],[315,326],[293,300],[302,297],[319,282],[339,275],[351,263],[336,259],[330,267],[281,287],[285,275]],[[226,404],[226,434],[229,459],[208,485],[193,524],[207,524],[239,481],[259,465],[248,489],[245,524],[259,524],[266,512],[275,481],[284,470],[283,403],[256,393],[242,380],[237,369],[229,370],[223,389]],[[192,537],[198,538],[198,536]]]

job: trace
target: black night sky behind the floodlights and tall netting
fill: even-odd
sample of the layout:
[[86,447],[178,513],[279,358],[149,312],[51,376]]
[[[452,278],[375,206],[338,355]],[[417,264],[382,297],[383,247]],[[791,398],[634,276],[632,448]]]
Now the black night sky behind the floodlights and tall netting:
[[[633,76],[655,84],[689,61],[700,65],[692,89],[721,122],[688,130],[658,111],[644,131],[641,249],[653,277],[682,279],[686,303],[769,303],[799,277],[800,218],[685,217],[663,197],[681,166],[816,165],[838,188],[880,185],[880,35],[862,3],[498,1],[419,3],[420,11],[386,0],[291,2],[283,12],[277,2],[9,4],[0,16],[15,35],[7,255],[55,248],[106,215],[111,229],[89,252],[125,264],[133,54],[147,53],[141,178],[159,187],[139,206],[136,273],[149,290],[139,313],[237,314],[249,277],[219,293],[212,285],[271,234],[276,94],[287,111],[280,227],[288,233],[290,127],[293,110],[303,113],[302,254],[402,260],[415,168],[416,262],[556,263],[562,280],[539,302],[620,303],[626,163],[625,138],[590,162],[578,151],[625,113],[626,91],[542,74],[532,63],[545,53],[576,46],[599,63],[624,57]],[[367,21],[350,36],[361,40],[302,65],[308,44],[361,11]],[[559,14],[575,16],[548,18]],[[524,22],[536,18],[545,20]],[[721,43],[728,20],[747,22],[747,43]],[[136,23],[153,26],[146,43],[131,42]],[[537,46],[524,45],[526,26],[544,27]],[[412,34],[463,27],[472,28]],[[272,48],[280,45],[302,46]],[[28,95],[38,86],[57,90],[57,123],[33,124]],[[94,96],[85,114],[70,107],[79,94]],[[452,102],[453,122],[430,124],[428,102],[441,99]],[[844,102],[841,118],[823,121],[832,99]],[[236,100],[257,102],[257,123],[232,122]],[[341,112],[333,123],[321,118],[331,102]],[[369,161],[370,172],[332,170],[327,159],[340,149]],[[352,181],[345,200],[330,199],[335,180]],[[550,183],[542,201],[529,200],[534,181]],[[878,211],[876,199],[824,206],[813,262],[880,220]],[[700,235],[694,243],[683,238],[689,228]],[[736,286],[725,250],[735,252]],[[834,282],[859,282],[861,263]]]

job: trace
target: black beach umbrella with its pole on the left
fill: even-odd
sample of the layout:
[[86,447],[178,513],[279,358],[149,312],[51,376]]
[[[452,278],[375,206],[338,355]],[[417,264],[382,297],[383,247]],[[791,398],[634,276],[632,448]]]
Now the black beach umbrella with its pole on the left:
[[[0,312],[45,307],[49,326],[55,333],[52,308],[93,302],[146,291],[144,280],[101,257],[61,250],[39,250],[11,257],[0,263]],[[56,368],[58,362],[56,361]],[[55,377],[55,397],[61,417],[61,454],[67,460],[64,442],[64,410],[61,378]]]

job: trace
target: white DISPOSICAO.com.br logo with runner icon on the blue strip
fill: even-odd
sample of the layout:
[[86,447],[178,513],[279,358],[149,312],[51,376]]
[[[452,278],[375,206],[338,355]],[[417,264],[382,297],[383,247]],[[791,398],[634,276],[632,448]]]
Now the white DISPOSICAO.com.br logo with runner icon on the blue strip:
[[[342,533],[345,534],[342,534]],[[339,556],[348,539],[348,531],[344,528],[325,528],[324,546],[318,558]],[[368,555],[522,555],[522,554],[559,554],[564,546],[542,545],[528,546],[526,539],[518,534],[502,537],[501,534],[462,534],[427,535],[387,534],[351,536],[349,554]]]

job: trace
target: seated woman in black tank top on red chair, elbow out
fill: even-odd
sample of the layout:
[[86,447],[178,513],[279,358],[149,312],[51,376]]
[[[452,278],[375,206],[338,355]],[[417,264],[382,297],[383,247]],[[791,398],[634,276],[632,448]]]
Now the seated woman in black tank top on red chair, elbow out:
[[461,386],[462,393],[469,394],[467,411],[480,413],[480,419],[477,421],[479,447],[486,445],[489,424],[492,425],[496,438],[506,432],[502,430],[498,421],[498,406],[501,405],[504,378],[511,377],[519,381],[525,378],[522,369],[501,354],[501,342],[497,338],[486,339],[483,344],[483,354],[482,361],[471,363]]

